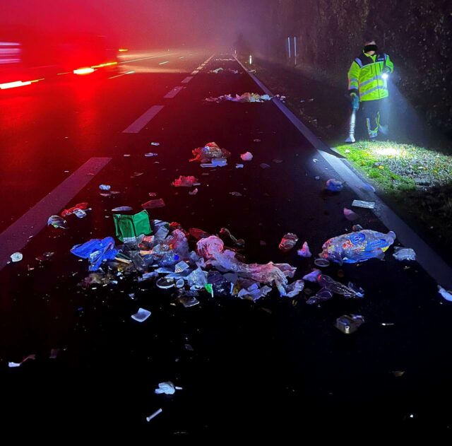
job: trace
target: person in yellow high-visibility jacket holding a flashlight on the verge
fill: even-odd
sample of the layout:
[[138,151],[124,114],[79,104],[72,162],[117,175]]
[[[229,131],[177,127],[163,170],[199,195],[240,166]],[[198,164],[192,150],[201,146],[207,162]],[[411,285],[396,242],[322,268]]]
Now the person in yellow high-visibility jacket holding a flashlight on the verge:
[[[388,133],[385,109],[388,98],[388,75],[393,73],[394,64],[388,54],[379,52],[373,39],[366,39],[364,49],[348,70],[348,92],[352,102],[362,105],[370,139],[381,133]],[[383,122],[385,124],[383,124]]]

